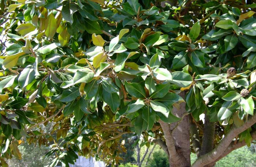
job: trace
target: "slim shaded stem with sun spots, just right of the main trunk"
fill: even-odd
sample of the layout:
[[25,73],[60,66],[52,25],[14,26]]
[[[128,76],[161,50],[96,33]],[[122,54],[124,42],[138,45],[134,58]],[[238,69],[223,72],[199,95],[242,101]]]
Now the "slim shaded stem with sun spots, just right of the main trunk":
[[193,148],[196,152],[196,156],[199,157],[199,152],[201,151],[201,144],[199,141],[199,134],[197,131],[197,127],[193,122],[190,123],[190,135],[193,143]]

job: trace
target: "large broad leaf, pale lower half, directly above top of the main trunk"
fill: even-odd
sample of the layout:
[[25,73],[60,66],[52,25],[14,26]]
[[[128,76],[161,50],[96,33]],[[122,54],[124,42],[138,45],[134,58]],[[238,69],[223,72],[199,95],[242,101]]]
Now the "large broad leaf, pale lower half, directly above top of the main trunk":
[[193,81],[192,76],[185,72],[175,71],[171,75],[172,79],[169,82],[182,88],[188,87]]

